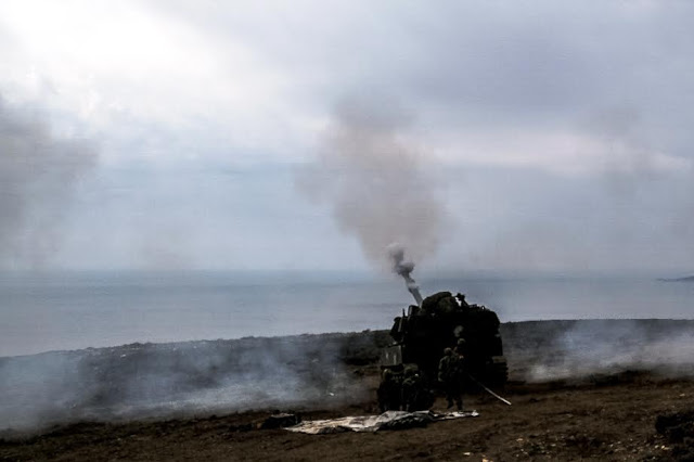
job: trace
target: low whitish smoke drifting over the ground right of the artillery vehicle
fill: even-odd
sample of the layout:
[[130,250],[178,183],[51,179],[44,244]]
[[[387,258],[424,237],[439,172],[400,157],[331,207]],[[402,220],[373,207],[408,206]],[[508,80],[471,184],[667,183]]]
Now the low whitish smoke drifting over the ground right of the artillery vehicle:
[[692,376],[694,322],[689,320],[527,321],[501,330],[512,375],[528,382],[627,371]]

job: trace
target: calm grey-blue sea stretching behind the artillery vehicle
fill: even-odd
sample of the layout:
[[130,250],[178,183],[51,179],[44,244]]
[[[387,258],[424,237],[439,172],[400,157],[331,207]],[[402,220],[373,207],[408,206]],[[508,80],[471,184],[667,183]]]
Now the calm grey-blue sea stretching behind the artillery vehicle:
[[[655,275],[464,273],[417,282],[424,296],[464,293],[502,322],[694,318],[694,283]],[[369,273],[0,273],[0,357],[390,329],[412,301],[402,280]]]

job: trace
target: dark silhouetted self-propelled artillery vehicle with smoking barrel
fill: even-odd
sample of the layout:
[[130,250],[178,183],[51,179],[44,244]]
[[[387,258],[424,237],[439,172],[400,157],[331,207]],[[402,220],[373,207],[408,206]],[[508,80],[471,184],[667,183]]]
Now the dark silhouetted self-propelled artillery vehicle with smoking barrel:
[[[419,301],[421,297],[415,299]],[[507,381],[509,368],[499,325],[494,311],[467,304],[463,294],[434,294],[420,306],[411,305],[407,315],[402,310],[402,316],[395,318],[390,329],[395,343],[384,348],[381,357],[384,377],[393,380],[406,367],[415,365],[429,387],[436,388],[444,349],[458,345],[462,338],[466,372],[478,383],[501,386]],[[474,386],[474,382],[468,386]]]

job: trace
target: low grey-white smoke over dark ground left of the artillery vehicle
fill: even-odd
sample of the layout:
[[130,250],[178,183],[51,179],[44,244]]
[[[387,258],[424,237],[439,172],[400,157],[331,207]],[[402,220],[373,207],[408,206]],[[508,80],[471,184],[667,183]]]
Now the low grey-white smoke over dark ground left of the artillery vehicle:
[[354,402],[368,389],[346,361],[373,361],[372,349],[368,335],[324,334],[0,358],[0,438],[74,421]]

